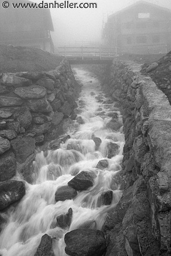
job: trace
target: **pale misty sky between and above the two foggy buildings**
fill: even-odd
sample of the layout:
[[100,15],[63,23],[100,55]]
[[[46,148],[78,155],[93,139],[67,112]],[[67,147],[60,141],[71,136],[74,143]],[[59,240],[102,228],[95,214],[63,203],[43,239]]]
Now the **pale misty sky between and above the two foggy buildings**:
[[[34,1],[34,0],[32,0]],[[44,0],[44,2],[53,2]],[[51,33],[55,46],[74,41],[101,40],[102,21],[107,16],[127,7],[138,0],[70,0],[70,2],[96,2],[96,9],[53,9],[51,16],[55,32]],[[171,8],[171,0],[146,0],[163,7]],[[37,3],[41,0],[36,0]],[[57,0],[63,2],[63,0]]]

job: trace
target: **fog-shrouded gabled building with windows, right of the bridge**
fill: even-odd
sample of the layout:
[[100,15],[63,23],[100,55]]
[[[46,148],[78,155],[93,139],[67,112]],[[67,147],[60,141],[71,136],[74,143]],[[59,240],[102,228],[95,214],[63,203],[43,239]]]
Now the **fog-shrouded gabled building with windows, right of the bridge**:
[[166,53],[171,50],[171,10],[140,0],[108,17],[103,38],[118,52]]

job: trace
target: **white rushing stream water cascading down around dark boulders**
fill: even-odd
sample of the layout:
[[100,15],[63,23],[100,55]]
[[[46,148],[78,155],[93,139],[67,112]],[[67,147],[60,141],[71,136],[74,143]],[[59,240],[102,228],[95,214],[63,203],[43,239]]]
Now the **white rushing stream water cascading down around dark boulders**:
[[[82,81],[82,93],[78,101],[78,111],[85,121],[76,122],[69,131],[70,139],[57,150],[44,154],[38,153],[35,160],[37,172],[34,184],[25,182],[26,194],[16,208],[8,211],[9,221],[0,234],[0,254],[2,256],[33,256],[38,248],[41,237],[46,233],[53,240],[55,256],[66,256],[64,252],[64,234],[79,228],[83,223],[92,221],[96,229],[101,229],[105,217],[120,200],[121,191],[115,182],[115,175],[121,170],[124,135],[105,127],[110,121],[108,112],[117,111],[114,104],[102,104],[98,99],[106,100],[99,81],[86,71],[75,69],[76,77]],[[93,95],[93,92],[95,94]],[[98,98],[97,98],[98,96]],[[99,113],[102,115],[99,115]],[[100,114],[101,114],[100,113]],[[120,112],[117,112],[121,120]],[[93,137],[101,138],[101,145],[95,151]],[[119,154],[107,158],[108,143],[114,142],[120,146]],[[74,144],[79,151],[67,149],[68,144]],[[101,159],[108,159],[108,168],[95,168]],[[55,192],[58,188],[81,171],[89,170],[95,175],[94,186],[79,192],[73,200],[55,203]],[[98,205],[102,192],[113,190],[111,205]],[[65,214],[69,208],[73,210],[70,228],[57,227],[56,217]]]

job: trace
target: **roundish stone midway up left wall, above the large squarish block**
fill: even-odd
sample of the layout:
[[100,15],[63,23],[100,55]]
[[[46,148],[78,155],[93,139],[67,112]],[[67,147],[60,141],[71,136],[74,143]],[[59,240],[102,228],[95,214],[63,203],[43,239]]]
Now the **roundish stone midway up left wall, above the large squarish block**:
[[32,122],[32,115],[28,108],[19,108],[18,111],[16,111],[14,118],[17,118],[19,121],[20,126],[27,129]]

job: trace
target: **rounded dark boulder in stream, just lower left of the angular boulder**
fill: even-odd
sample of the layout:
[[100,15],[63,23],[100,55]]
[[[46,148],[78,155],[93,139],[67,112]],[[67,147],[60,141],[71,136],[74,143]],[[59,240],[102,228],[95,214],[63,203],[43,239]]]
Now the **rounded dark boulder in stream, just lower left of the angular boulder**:
[[57,189],[55,193],[55,201],[58,202],[73,199],[76,195],[77,192],[75,189],[69,186],[63,186]]

